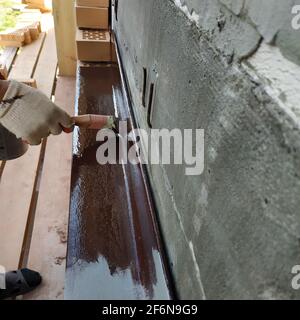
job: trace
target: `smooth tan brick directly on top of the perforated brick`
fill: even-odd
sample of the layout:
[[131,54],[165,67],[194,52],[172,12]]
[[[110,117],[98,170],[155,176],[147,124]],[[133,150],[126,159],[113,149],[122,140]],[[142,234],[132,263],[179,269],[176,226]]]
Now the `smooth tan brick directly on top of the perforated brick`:
[[75,10],[78,28],[108,29],[108,8],[81,7],[76,5]]

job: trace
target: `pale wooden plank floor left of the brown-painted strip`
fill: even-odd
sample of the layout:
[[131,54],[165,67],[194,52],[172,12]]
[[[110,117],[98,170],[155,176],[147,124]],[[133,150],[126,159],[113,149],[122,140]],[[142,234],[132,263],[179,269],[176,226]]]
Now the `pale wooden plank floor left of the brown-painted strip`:
[[[53,19],[43,15],[38,40],[7,48],[9,79],[30,79],[74,112],[75,78],[56,76]],[[23,299],[63,299],[71,175],[71,135],[49,137],[14,161],[0,161],[0,264],[39,271],[43,284]]]

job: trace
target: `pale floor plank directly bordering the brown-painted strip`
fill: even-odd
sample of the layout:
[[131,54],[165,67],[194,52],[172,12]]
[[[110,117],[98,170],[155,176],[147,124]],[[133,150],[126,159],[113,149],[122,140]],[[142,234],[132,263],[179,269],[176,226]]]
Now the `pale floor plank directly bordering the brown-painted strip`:
[[[74,112],[75,78],[57,81],[55,102]],[[43,284],[24,299],[63,299],[69,216],[72,136],[48,138],[41,178],[29,268],[39,270]]]

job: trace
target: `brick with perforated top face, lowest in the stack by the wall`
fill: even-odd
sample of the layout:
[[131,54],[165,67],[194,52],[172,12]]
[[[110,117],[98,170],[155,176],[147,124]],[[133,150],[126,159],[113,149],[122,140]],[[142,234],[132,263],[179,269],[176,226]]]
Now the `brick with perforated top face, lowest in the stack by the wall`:
[[109,31],[77,29],[76,44],[78,60],[87,62],[109,62],[111,60]]

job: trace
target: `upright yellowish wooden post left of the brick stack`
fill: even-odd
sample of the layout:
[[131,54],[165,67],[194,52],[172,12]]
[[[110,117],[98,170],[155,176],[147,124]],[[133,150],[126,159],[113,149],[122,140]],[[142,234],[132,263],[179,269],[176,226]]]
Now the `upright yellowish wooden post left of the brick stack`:
[[75,44],[75,0],[53,0],[52,3],[59,74],[61,76],[75,76],[77,60]]

